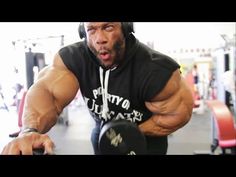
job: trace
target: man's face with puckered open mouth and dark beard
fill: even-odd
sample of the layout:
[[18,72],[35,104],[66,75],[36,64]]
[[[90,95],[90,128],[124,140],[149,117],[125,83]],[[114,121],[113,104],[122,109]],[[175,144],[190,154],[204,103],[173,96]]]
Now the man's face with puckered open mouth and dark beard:
[[87,44],[93,54],[106,68],[115,67],[124,56],[125,38],[121,23],[87,22]]

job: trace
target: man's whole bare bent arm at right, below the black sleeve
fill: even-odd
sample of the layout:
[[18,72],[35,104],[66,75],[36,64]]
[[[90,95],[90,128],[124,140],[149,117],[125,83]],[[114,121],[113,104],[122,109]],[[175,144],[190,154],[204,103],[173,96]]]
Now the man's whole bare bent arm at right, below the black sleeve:
[[176,70],[164,89],[145,102],[153,115],[139,125],[146,135],[165,136],[183,127],[191,118],[193,98],[185,80]]

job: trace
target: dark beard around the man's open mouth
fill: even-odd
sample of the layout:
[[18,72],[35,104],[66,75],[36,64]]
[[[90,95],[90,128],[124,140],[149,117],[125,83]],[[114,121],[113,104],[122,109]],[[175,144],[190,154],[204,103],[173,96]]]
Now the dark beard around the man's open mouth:
[[[108,48],[106,46],[102,46],[101,48],[99,48],[97,50],[90,43],[87,43],[87,45],[88,45],[90,51],[93,53],[93,55],[95,55],[96,58],[98,59],[100,65],[102,65],[103,67],[105,67],[107,69],[117,66],[118,64],[120,64],[123,61],[124,51],[125,51],[125,40],[124,39],[117,40],[111,48]],[[102,52],[109,53],[112,56],[113,60],[112,60],[111,64],[104,65],[104,63],[101,62],[101,60],[99,59],[98,56]]]

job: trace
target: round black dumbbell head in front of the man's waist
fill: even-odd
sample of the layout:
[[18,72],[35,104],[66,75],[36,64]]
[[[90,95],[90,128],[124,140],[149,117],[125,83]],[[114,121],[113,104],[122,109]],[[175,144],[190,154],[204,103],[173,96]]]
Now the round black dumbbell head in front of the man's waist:
[[136,124],[125,120],[106,123],[98,146],[103,155],[141,155],[147,153],[146,139]]

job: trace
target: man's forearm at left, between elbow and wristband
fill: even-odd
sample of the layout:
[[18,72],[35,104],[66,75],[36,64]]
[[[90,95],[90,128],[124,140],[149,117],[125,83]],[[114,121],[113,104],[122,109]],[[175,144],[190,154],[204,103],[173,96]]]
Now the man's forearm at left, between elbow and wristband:
[[23,113],[23,128],[36,128],[45,133],[55,125],[62,108],[57,107],[48,90],[33,86],[27,93]]

